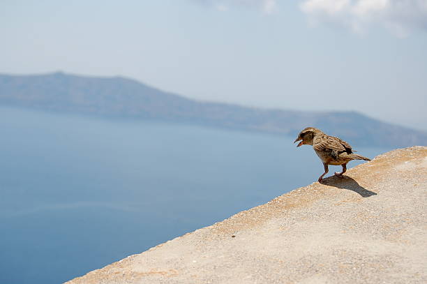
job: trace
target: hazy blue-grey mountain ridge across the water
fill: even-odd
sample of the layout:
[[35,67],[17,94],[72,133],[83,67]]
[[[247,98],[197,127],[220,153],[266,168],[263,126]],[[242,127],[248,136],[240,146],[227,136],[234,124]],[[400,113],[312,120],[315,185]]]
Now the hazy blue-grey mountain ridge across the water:
[[83,77],[64,73],[0,75],[0,105],[292,136],[306,126],[315,126],[359,146],[427,144],[426,132],[388,124],[357,112],[268,110],[210,103],[190,100],[123,77]]

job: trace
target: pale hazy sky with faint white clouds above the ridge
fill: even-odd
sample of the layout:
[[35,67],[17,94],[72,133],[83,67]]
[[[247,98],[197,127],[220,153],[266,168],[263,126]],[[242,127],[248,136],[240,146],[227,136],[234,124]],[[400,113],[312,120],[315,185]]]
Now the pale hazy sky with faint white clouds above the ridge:
[[123,75],[427,130],[427,0],[1,0],[0,38],[0,73]]

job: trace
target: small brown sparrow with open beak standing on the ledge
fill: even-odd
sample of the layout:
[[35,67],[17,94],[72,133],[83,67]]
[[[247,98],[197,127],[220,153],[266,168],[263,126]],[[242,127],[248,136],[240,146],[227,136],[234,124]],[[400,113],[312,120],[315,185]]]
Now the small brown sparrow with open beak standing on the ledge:
[[312,145],[317,156],[322,160],[324,166],[324,173],[319,177],[318,181],[322,183],[322,179],[325,174],[329,172],[329,165],[341,165],[343,172],[336,172],[337,177],[343,177],[343,174],[347,171],[347,163],[350,160],[370,160],[364,156],[354,154],[350,144],[341,140],[338,137],[329,136],[323,133],[322,130],[307,127],[302,130],[297,139],[294,141],[300,141],[297,147],[301,145]]

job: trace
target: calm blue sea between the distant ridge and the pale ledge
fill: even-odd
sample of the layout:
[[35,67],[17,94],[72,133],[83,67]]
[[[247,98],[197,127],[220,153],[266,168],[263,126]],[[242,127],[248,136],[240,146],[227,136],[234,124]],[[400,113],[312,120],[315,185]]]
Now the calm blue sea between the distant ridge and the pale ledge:
[[294,137],[5,107],[0,131],[0,283],[70,280],[323,170]]

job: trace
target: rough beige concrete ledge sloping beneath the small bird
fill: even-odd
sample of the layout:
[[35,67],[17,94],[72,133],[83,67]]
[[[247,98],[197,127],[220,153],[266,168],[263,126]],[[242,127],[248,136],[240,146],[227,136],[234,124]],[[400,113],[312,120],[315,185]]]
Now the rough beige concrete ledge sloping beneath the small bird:
[[426,197],[398,149],[67,283],[427,283]]

